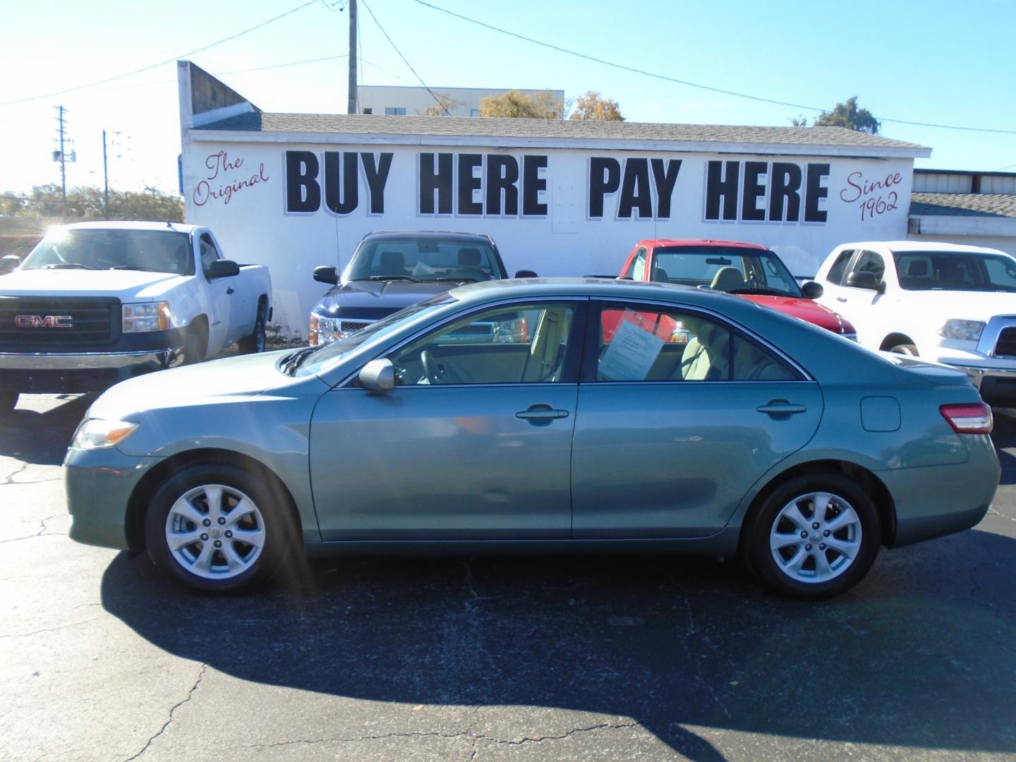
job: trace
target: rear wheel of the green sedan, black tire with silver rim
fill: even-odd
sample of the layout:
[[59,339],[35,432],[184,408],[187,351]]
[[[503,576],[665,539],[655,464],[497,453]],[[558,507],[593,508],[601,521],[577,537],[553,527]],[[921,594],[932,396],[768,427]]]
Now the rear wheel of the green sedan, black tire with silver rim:
[[[821,515],[814,512],[815,501],[809,501],[815,494],[831,498]],[[793,508],[804,521],[787,518],[784,511],[793,515]],[[840,516],[839,522],[847,523],[826,528],[836,527]],[[780,485],[757,506],[745,524],[742,554],[746,565],[777,594],[816,600],[860,582],[875,563],[881,537],[878,511],[863,489],[841,473],[808,473]],[[782,547],[773,550],[771,541]],[[849,555],[833,544],[848,549]],[[798,563],[802,557],[803,563]]]

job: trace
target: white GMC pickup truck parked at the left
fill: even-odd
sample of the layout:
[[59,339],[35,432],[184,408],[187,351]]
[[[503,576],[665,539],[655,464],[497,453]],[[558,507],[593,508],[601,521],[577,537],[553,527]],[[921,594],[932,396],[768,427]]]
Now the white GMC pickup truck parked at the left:
[[0,411],[22,392],[104,389],[233,341],[263,352],[270,300],[267,268],[224,259],[207,228],[51,228],[0,275]]

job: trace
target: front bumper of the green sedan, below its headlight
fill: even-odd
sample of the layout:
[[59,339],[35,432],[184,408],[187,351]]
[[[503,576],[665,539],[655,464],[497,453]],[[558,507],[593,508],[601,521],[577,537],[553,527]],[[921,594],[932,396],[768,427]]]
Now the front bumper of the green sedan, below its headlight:
[[125,455],[116,447],[67,450],[64,489],[71,515],[70,538],[101,548],[129,550],[131,495],[160,460]]

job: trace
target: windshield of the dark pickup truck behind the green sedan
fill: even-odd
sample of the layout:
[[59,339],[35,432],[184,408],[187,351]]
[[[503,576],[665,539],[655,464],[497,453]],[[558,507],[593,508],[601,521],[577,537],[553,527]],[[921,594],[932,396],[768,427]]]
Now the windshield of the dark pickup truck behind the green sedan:
[[495,280],[503,278],[494,248],[483,240],[368,238],[342,276],[350,280]]

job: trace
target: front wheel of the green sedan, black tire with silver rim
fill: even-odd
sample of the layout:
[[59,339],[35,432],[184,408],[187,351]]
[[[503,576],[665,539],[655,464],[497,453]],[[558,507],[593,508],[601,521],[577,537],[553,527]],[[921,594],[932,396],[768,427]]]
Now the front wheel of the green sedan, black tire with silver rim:
[[[217,506],[205,488],[219,490]],[[233,513],[238,498],[249,501],[242,518]],[[298,536],[284,490],[263,473],[227,463],[191,465],[167,479],[148,504],[144,533],[157,566],[187,587],[210,593],[241,592],[267,581]],[[181,537],[176,549],[170,547],[173,533]],[[194,541],[187,543],[189,536]]]

